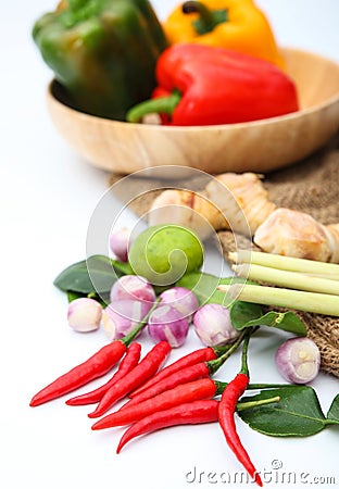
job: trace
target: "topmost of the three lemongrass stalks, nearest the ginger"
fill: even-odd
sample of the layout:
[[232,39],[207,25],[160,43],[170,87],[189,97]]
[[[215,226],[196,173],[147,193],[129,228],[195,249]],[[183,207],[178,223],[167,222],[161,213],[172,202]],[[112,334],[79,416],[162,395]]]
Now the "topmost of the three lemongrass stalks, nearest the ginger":
[[239,250],[228,253],[228,259],[234,263],[252,263],[289,272],[317,274],[326,278],[330,278],[331,276],[335,279],[339,278],[339,264],[336,263],[325,263],[250,250]]

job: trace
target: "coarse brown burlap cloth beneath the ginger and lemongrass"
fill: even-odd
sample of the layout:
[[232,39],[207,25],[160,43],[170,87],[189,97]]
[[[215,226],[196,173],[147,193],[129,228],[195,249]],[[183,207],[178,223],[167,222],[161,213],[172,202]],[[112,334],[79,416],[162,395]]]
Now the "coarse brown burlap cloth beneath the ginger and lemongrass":
[[[112,175],[110,183],[118,178]],[[306,212],[323,224],[339,223],[339,136],[311,158],[264,175],[263,184],[277,206]],[[131,209],[138,215],[147,213],[156,193],[138,198]],[[218,233],[218,238],[226,256],[228,251],[235,249],[234,236],[224,230]],[[243,238],[237,237],[238,246],[241,241]],[[321,350],[322,371],[339,377],[339,317],[296,313],[303,319],[310,338]]]

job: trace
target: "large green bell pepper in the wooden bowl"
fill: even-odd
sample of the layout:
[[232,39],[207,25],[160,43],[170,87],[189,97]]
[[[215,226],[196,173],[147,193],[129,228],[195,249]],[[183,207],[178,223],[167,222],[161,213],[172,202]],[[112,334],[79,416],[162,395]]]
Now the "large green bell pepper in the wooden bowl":
[[66,0],[34,25],[33,38],[67,103],[124,121],[150,97],[166,39],[146,0]]

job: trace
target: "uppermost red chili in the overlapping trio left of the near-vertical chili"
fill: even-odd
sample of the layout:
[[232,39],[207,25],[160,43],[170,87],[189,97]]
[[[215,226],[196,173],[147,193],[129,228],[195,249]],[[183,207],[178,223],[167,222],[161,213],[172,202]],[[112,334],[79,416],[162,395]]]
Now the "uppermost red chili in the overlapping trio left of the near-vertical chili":
[[172,363],[171,365],[166,366],[165,368],[162,368],[156,375],[154,375],[152,378],[150,378],[147,383],[145,383],[141,387],[134,390],[129,393],[130,398],[134,398],[136,396],[139,396],[143,390],[149,389],[154,384],[159,383],[163,378],[174,374],[175,372],[180,372],[184,368],[194,365],[200,362],[208,362],[210,360],[214,360],[217,358],[217,351],[214,350],[211,347],[201,348],[200,350],[196,350],[191,353],[188,353],[187,355],[183,356],[181,359],[177,360],[176,362]]

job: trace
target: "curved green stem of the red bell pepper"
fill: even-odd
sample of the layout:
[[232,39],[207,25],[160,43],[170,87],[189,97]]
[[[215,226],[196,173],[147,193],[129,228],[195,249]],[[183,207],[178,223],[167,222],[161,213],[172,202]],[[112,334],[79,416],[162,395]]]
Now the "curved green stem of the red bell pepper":
[[129,123],[138,123],[147,114],[172,115],[180,100],[181,96],[177,90],[173,91],[167,97],[158,97],[155,99],[146,100],[129,109],[126,114],[126,121]]

